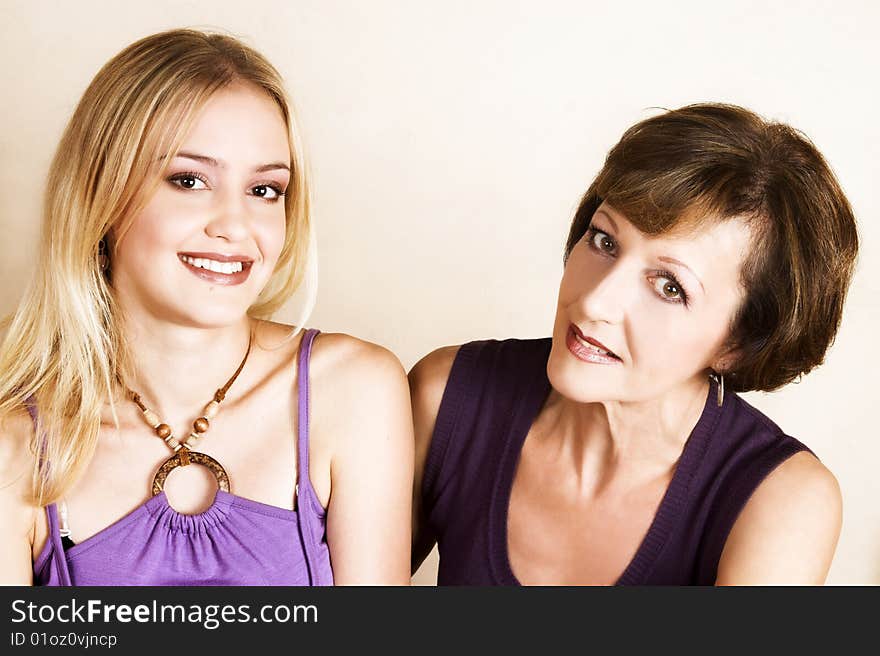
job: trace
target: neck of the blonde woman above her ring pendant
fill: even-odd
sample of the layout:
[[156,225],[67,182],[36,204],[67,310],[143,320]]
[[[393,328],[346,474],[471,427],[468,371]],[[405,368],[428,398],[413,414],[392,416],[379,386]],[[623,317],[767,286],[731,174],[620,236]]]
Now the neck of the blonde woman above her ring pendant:
[[[125,384],[173,426],[191,421],[235,373],[247,352],[251,321],[245,316],[203,328],[129,317],[124,330],[133,364]],[[235,396],[234,387],[229,394]]]

